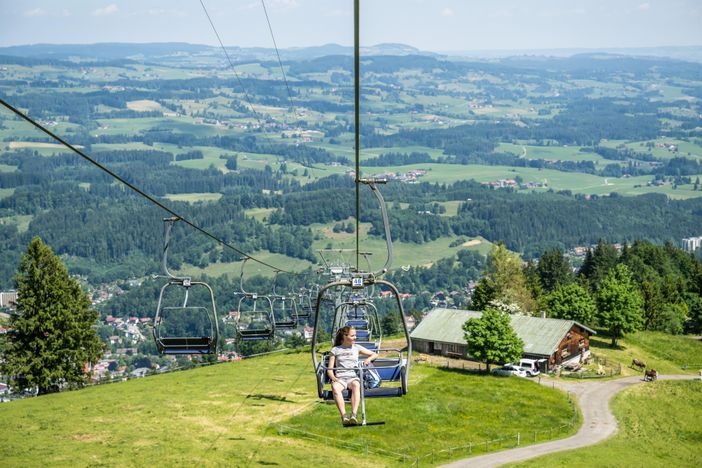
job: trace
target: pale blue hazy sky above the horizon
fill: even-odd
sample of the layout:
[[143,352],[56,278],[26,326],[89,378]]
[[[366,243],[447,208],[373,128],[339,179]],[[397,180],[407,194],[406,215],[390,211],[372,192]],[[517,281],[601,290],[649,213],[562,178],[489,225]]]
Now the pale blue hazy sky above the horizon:
[[[0,46],[272,47],[261,0],[0,0]],[[279,48],[351,45],[352,0],[264,0]],[[702,45],[702,0],[361,0],[361,44],[427,51]]]

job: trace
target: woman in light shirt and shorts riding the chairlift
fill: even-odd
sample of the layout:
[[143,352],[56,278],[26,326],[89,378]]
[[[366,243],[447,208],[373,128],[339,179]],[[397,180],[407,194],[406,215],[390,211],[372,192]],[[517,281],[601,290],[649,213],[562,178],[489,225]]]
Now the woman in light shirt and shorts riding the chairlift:
[[[356,329],[353,327],[342,327],[336,332],[334,347],[329,356],[329,370],[327,375],[332,381],[332,392],[334,402],[341,414],[341,423],[344,426],[355,426],[358,424],[358,404],[361,402],[361,379],[358,375],[358,356],[367,356],[365,364],[368,365],[378,353],[374,353],[357,345]],[[336,370],[334,369],[336,368]],[[351,394],[351,416],[346,415],[346,404],[344,402],[343,391],[347,390]]]

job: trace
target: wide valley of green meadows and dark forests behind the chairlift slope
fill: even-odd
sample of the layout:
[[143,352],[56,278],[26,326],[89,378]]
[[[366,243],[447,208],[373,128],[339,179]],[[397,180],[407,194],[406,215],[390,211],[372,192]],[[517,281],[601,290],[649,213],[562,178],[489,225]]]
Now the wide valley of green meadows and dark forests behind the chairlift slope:
[[[242,251],[281,254],[302,270],[316,249],[353,235],[349,56],[285,61],[288,94],[277,63],[244,51],[238,80],[208,69],[215,56],[200,46],[145,45],[149,61],[120,59],[135,47],[75,49],[97,54],[89,66],[8,49],[0,96]],[[702,65],[371,55],[361,73],[362,174],[389,179],[394,240],[424,246],[436,265],[465,255],[473,238],[529,259],[600,239],[700,234]],[[0,138],[3,288],[36,235],[93,285],[158,271],[162,210],[6,110]],[[382,245],[369,193],[361,206],[363,235]],[[236,275],[227,265],[239,255],[193,230],[176,229],[174,245],[175,270]],[[460,286],[435,274],[445,279],[408,287]]]

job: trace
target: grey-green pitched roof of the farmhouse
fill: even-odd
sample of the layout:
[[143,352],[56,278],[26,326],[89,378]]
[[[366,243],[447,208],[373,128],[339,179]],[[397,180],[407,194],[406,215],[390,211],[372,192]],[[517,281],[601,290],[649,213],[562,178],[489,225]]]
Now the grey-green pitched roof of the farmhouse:
[[[434,309],[412,330],[411,338],[442,343],[466,344],[463,324],[469,318],[480,318],[482,312],[460,309]],[[524,341],[525,354],[550,356],[573,325],[595,332],[574,320],[511,315],[512,328]]]

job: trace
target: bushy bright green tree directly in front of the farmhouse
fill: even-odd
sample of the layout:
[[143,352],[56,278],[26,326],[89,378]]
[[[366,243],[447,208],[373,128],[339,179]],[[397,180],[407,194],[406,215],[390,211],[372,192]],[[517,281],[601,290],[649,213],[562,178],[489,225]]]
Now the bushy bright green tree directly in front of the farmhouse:
[[468,355],[490,364],[504,364],[519,360],[524,354],[524,342],[512,328],[509,314],[496,309],[485,309],[480,318],[468,319],[463,324]]

